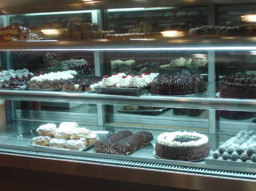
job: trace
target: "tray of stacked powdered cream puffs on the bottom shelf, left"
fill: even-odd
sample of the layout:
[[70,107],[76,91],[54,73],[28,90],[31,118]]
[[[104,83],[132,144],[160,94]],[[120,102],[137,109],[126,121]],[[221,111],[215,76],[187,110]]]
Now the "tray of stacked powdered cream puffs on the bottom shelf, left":
[[90,131],[78,127],[75,122],[63,122],[59,128],[53,123],[41,125],[36,132],[40,135],[28,143],[29,146],[83,151],[93,146],[97,141],[109,137],[109,131]]

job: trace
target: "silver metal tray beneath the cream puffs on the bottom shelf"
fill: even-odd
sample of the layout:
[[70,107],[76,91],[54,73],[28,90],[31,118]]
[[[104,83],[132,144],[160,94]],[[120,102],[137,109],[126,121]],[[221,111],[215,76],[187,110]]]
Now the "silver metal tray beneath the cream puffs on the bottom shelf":
[[[98,137],[98,141],[102,140],[102,139],[105,139],[109,136],[112,135],[112,132],[110,131],[91,131],[91,133],[96,133],[97,134],[97,137]],[[95,142],[96,143],[96,142]],[[54,147],[47,147],[47,146],[41,146],[41,145],[35,145],[35,144],[32,144],[32,141],[30,141],[28,143],[29,146],[31,147],[39,147],[39,148],[47,148],[47,149],[58,149],[58,150],[68,150],[68,151],[84,151],[86,149],[89,149],[90,147],[92,147],[95,143],[92,143],[86,147],[83,147],[81,149],[78,149],[78,150],[70,150],[70,149],[62,149],[62,148],[54,148]]]

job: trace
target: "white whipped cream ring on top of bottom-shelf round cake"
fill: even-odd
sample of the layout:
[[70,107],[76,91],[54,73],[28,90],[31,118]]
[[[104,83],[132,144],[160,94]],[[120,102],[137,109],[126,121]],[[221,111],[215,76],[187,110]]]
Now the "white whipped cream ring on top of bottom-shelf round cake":
[[[195,136],[195,137],[200,137],[200,140],[197,141],[189,141],[189,142],[179,142],[179,141],[173,141],[176,136],[182,136],[182,135],[188,135],[188,136]],[[196,132],[181,132],[181,131],[176,131],[172,133],[162,133],[158,136],[157,142],[171,146],[171,147],[186,147],[186,146],[198,146],[204,143],[208,142],[208,137],[206,137],[203,134],[196,133]]]

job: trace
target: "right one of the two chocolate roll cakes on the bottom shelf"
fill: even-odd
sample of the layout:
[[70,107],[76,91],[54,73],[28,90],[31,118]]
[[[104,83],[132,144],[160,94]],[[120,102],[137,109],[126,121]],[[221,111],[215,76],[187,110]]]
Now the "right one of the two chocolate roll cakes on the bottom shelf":
[[109,151],[111,153],[118,154],[129,154],[138,148],[141,148],[150,143],[153,140],[153,135],[147,131],[140,131],[138,133],[132,134],[116,143],[114,143]]

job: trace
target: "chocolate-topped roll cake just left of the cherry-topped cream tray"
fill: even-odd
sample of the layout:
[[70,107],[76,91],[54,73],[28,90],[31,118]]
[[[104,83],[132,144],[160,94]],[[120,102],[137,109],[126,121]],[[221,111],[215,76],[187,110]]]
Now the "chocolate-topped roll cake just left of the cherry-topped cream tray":
[[63,85],[63,91],[92,91],[91,85],[98,83],[102,79],[103,78],[98,76],[91,76],[71,80]]

